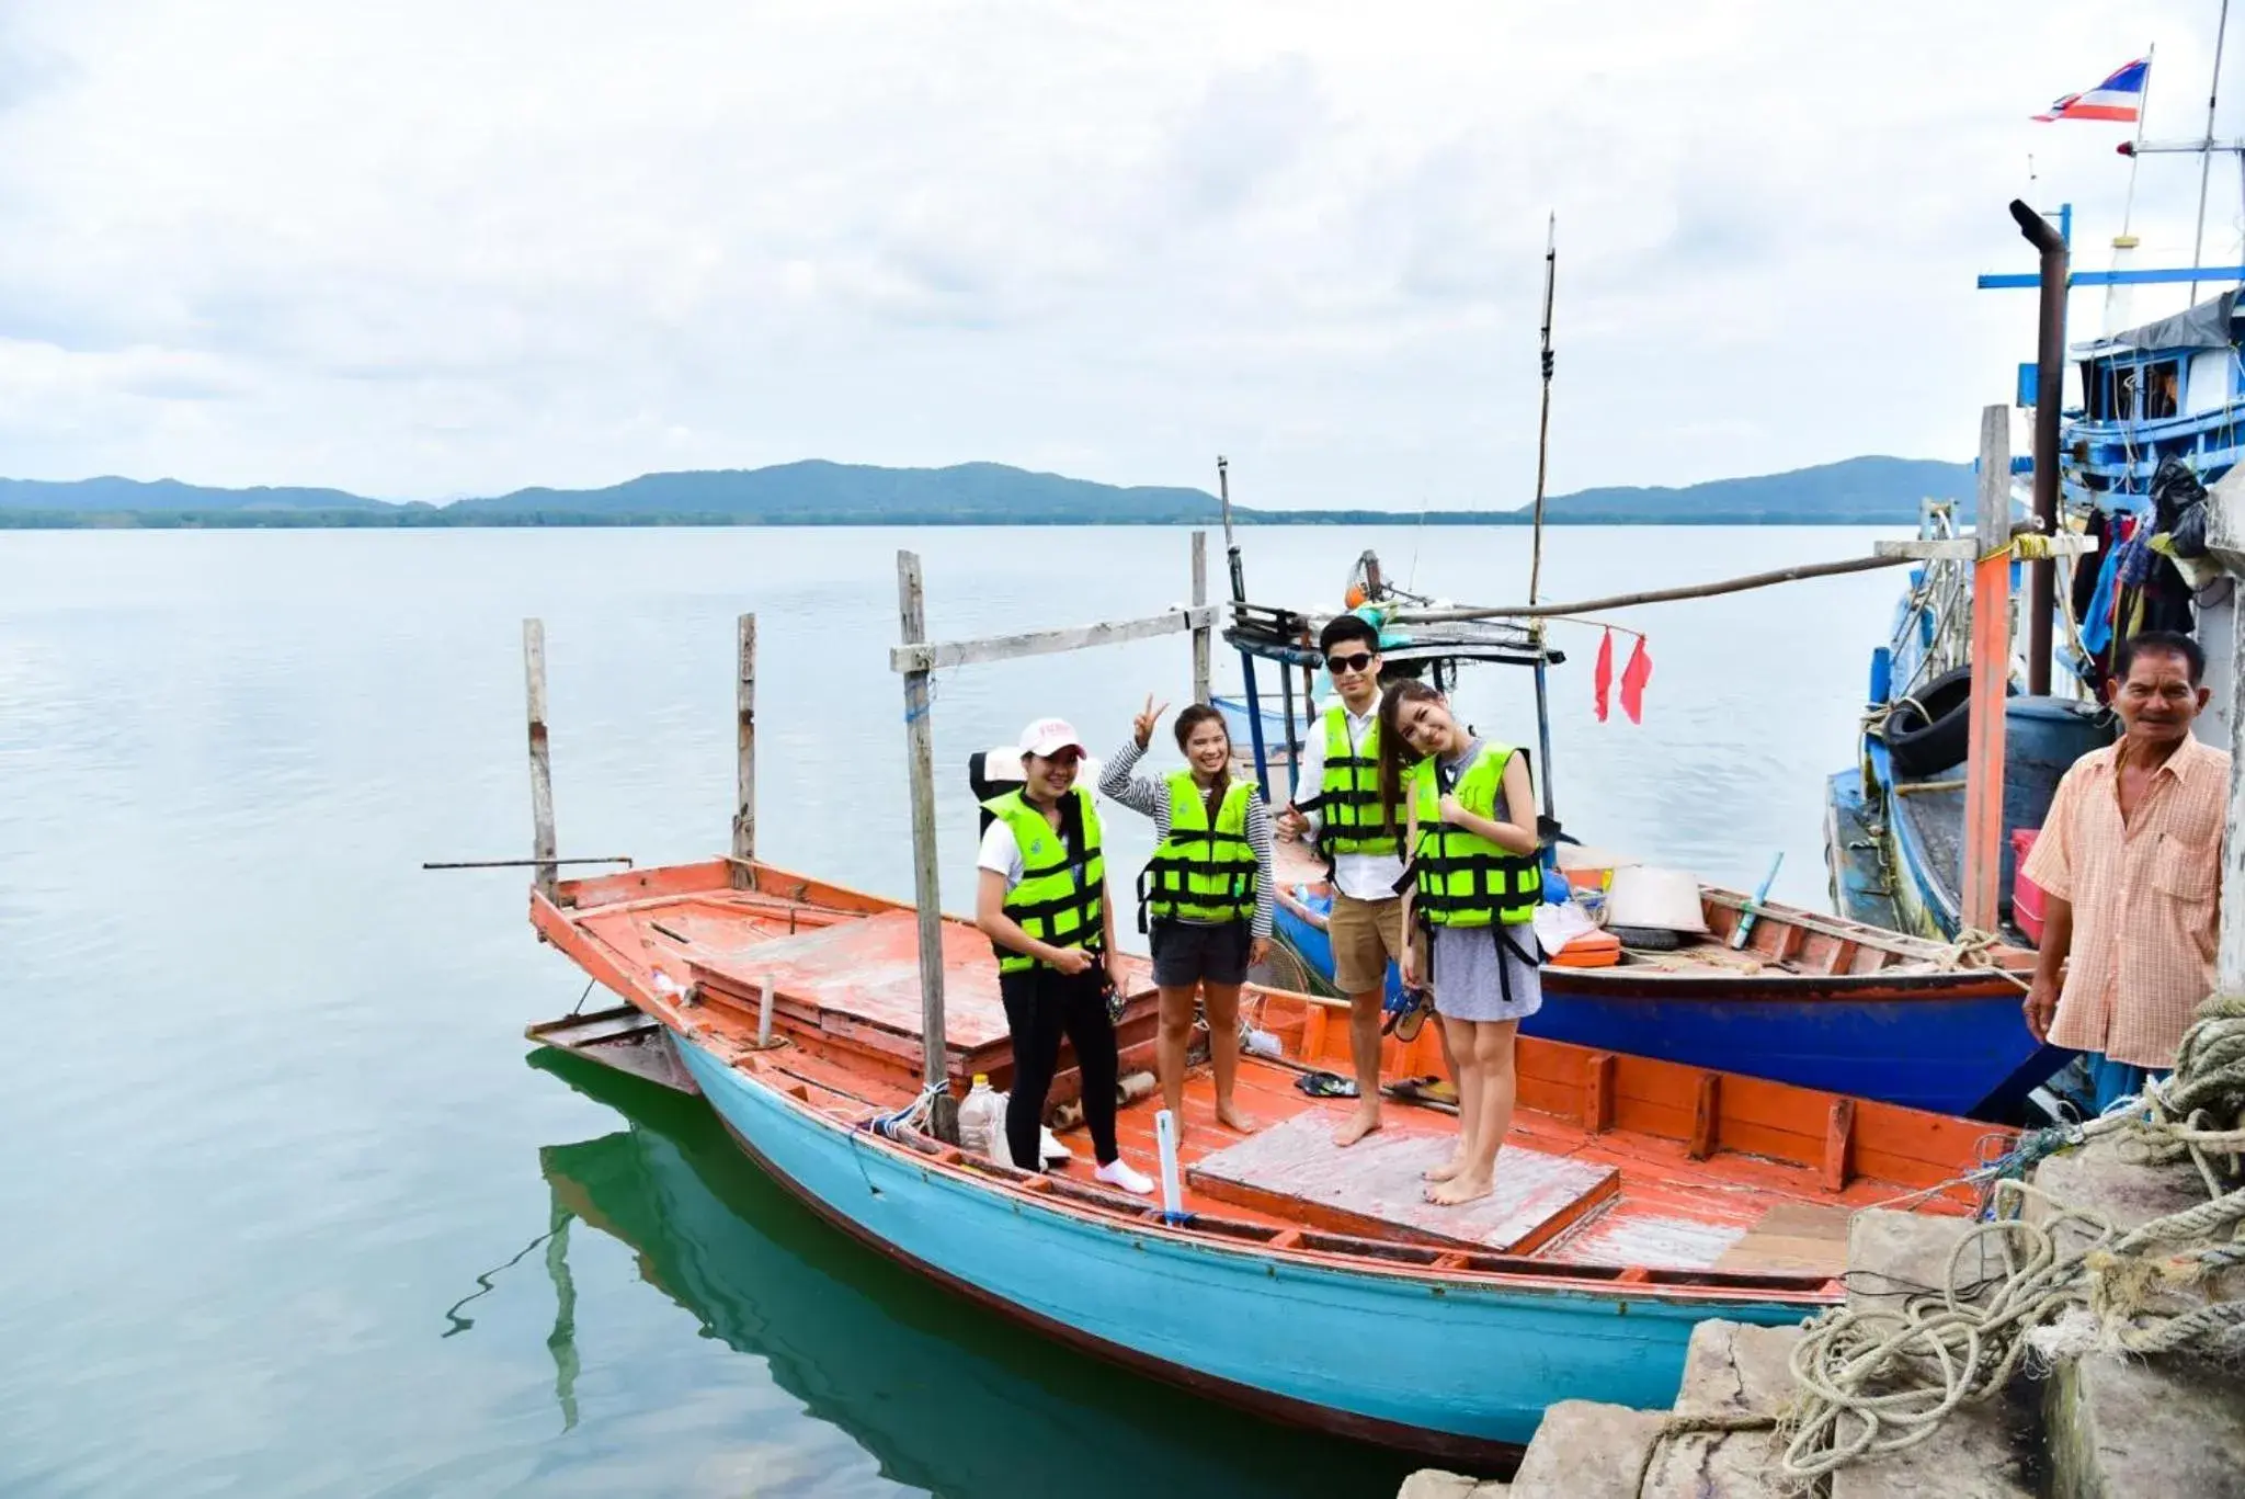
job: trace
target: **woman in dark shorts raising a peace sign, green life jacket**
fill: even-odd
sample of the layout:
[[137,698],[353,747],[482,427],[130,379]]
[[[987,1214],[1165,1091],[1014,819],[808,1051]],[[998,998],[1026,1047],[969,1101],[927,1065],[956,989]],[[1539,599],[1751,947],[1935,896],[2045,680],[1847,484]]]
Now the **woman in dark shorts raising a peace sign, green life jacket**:
[[1192,703],[1176,715],[1185,769],[1131,775],[1154,742],[1163,710],[1147,694],[1125,744],[1100,778],[1100,796],[1154,818],[1154,861],[1140,881],[1152,915],[1154,987],[1161,993],[1156,1070],[1161,1099],[1185,1137],[1185,1052],[1192,1000],[1208,1009],[1208,1065],[1217,1083],[1217,1124],[1248,1133],[1239,1112],[1239,984],[1271,951],[1271,814],[1255,787],[1235,782],[1233,737],[1224,715]]

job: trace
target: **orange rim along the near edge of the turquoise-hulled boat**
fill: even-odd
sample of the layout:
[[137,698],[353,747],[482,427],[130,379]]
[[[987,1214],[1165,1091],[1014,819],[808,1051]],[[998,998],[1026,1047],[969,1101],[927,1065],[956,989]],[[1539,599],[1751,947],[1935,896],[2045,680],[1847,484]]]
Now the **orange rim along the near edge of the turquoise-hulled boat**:
[[[759,1065],[761,1054],[752,1047],[743,1047],[732,1036],[716,1032],[707,1025],[698,1025],[689,1009],[680,1007],[676,998],[658,993],[647,984],[633,980],[633,962],[620,953],[599,933],[590,930],[584,921],[595,915],[615,915],[622,910],[644,908],[644,903],[656,901],[680,901],[696,894],[723,897],[727,890],[748,894],[754,888],[757,874],[777,874],[795,885],[799,892],[817,890],[822,897],[837,897],[840,906],[815,906],[817,910],[835,910],[835,915],[871,915],[882,910],[909,910],[898,901],[889,901],[862,890],[851,890],[844,885],[828,885],[824,881],[808,881],[788,870],[766,865],[761,861],[736,861],[736,858],[714,858],[685,865],[651,865],[647,870],[631,870],[622,874],[588,876],[584,881],[563,881],[557,885],[555,897],[546,897],[539,890],[530,890],[530,919],[539,935],[566,955],[597,957],[599,969],[593,969],[593,978],[606,982],[608,989],[620,993],[624,1000],[653,1016],[667,1029],[671,1029],[682,1041],[703,1050],[712,1061],[736,1072],[743,1081],[757,1083],[775,1101],[801,1112],[806,1119],[819,1124],[828,1130],[844,1130],[851,1137],[851,1146],[871,1144],[880,1151],[896,1155],[900,1162],[918,1166],[920,1171],[941,1171],[950,1180],[974,1189],[988,1191],[1006,1198],[1017,1209],[1035,1207],[1039,1211],[1060,1214],[1075,1220],[1098,1220],[1102,1225],[1127,1229],[1131,1234],[1149,1234],[1163,1243],[1179,1247],[1219,1252],[1233,1256],[1248,1256],[1262,1263],[1286,1263],[1307,1270],[1329,1270],[1349,1274],[1372,1274],[1378,1279],[1401,1279],[1414,1285],[1428,1285],[1439,1290],[1444,1285],[1461,1285],[1475,1290],[1536,1290],[1547,1294],[1589,1294],[1592,1299],[1607,1301],[1661,1301],[1664,1306],[1738,1306],[1753,1301],[1783,1301],[1787,1306],[1821,1308],[1839,1303],[1845,1297],[1843,1277],[1832,1274],[1787,1274],[1787,1272],[1722,1272],[1722,1270],[1690,1270],[1690,1268],[1652,1268],[1652,1265],[1576,1265],[1565,1261],[1542,1261],[1527,1256],[1504,1256],[1493,1252],[1468,1252],[1468,1250],[1439,1250],[1432,1245],[1408,1245],[1394,1241],[1376,1241],[1356,1234],[1340,1234],[1329,1229],[1311,1229],[1307,1225],[1286,1225],[1277,1229],[1266,1229],[1264,1225],[1226,1218],[1219,1214],[1192,1214],[1185,1225],[1172,1225],[1163,1220],[1158,1207],[1147,1207],[1138,1198],[1125,1198],[1120,1193],[1105,1193],[1080,1182],[1066,1182],[1046,1173],[1028,1173],[1012,1166],[997,1166],[997,1162],[981,1162],[972,1155],[947,1146],[934,1137],[914,1133],[907,1139],[891,1139],[867,1121],[846,1121],[815,1103],[810,1103],[808,1092],[797,1097],[795,1088],[815,1085],[822,1092],[833,1092],[837,1097],[851,1097],[860,1106],[878,1108],[864,1099],[828,1088],[826,1083],[813,1079],[795,1079],[792,1088],[775,1085],[768,1076],[768,1068]],[[725,879],[727,883],[685,883],[689,879]],[[730,883],[732,879],[748,876],[750,890],[741,890]],[[624,888],[649,888],[669,885],[662,894],[629,897],[622,894]],[[615,890],[617,894],[606,901],[584,903],[584,894],[606,894]],[[801,903],[810,903],[808,894],[795,897]],[[959,921],[959,917],[945,917],[945,921]],[[579,955],[584,948],[584,955]],[[588,964],[590,966],[590,964]],[[1316,996],[1300,996],[1286,989],[1264,987],[1266,993],[1298,1000],[1304,1005],[1316,1005]],[[718,1050],[721,1043],[732,1045]],[[1661,1063],[1682,1065],[1682,1063]],[[777,1068],[770,1068],[777,1070]],[[1724,1076],[1717,1070],[1690,1068],[1693,1072],[1708,1072]],[[1760,1083],[1762,1079],[1744,1079],[1749,1083]],[[1783,1083],[1778,1083],[1783,1085]],[[1821,1090],[1805,1090],[1821,1092]],[[1843,1097],[1843,1094],[1832,1094]],[[1897,1106],[1906,1108],[1906,1106]],[[1924,1110],[1906,1110],[1924,1112]],[[1037,1182],[1030,1187],[1030,1182]],[[1953,1182],[1949,1182],[1953,1184]],[[1924,1187],[1904,1193],[1899,1200],[1928,1200],[1935,1198],[1942,1187]],[[1273,1245],[1271,1241],[1284,1236],[1289,1227],[1298,1229],[1295,1243]],[[1309,1245],[1309,1247],[1304,1247]],[[1325,1247],[1331,1245],[1331,1247]],[[1412,1263],[1417,1261],[1417,1263]],[[1437,1261],[1441,1263],[1437,1270]],[[1464,1263],[1457,1263],[1464,1261]],[[1502,1261],[1502,1263],[1491,1263]],[[1603,1292],[1603,1294],[1601,1294]],[[1621,1294],[1616,1294],[1621,1292]]]

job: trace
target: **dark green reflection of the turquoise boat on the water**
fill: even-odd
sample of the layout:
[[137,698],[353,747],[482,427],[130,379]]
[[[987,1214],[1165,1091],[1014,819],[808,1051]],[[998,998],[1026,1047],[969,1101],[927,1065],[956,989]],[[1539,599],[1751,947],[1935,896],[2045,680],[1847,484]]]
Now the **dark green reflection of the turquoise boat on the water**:
[[761,1357],[810,1416],[846,1432],[898,1483],[974,1499],[1136,1497],[1149,1486],[1360,1497],[1394,1492],[1414,1468],[1109,1369],[927,1285],[795,1202],[700,1099],[559,1052],[537,1052],[530,1065],[624,1117],[615,1133],[539,1151],[555,1211],[543,1238],[557,1303],[548,1344],[568,1423],[577,1220],[629,1245],[649,1285],[712,1337]]

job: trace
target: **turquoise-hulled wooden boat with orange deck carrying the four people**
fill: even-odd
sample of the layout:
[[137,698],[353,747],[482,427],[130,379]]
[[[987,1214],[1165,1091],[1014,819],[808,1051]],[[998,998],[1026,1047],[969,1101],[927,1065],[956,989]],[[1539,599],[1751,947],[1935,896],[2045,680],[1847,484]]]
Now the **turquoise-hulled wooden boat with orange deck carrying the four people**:
[[[1455,1119],[1396,1103],[1338,1151],[1354,1103],[1298,1081],[1345,1068],[1331,1000],[1255,991],[1277,1056],[1241,1063],[1233,1135],[1188,1088],[1181,1216],[1091,1184],[1087,1142],[1051,1175],[997,1166],[914,1124],[918,912],[752,858],[631,870],[532,892],[530,919],[629,1014],[534,1027],[709,1099],[750,1157],[882,1254],[1078,1348],[1277,1418],[1459,1461],[1524,1443],[1554,1400],[1661,1407],[1693,1324],[1787,1324],[1843,1299],[1848,1214],[1913,1198],[1960,1214],[1955,1180],[2007,1130],[1556,1041],[1520,1045],[1520,1119],[1497,1193],[1419,1196]],[[945,1063],[1006,1085],[997,964],[941,930]],[[1149,1065],[1136,975],[1125,1072]],[[768,1041],[759,1041],[759,1029]],[[653,1052],[653,1054],[651,1054]],[[1432,1029],[1387,1074],[1439,1072]],[[1053,1101],[1071,1101],[1064,1072]],[[1154,1164],[1154,1103],[1122,1112]]]

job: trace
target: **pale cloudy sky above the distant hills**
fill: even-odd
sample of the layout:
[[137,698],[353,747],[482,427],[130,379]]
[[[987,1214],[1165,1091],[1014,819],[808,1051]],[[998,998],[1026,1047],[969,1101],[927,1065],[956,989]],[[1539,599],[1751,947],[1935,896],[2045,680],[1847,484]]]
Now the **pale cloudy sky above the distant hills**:
[[[1511,508],[1549,214],[1551,492],[1964,458],[2034,357],[2007,202],[2101,267],[2128,189],[2126,126],[2029,115],[2155,43],[2200,133],[2216,11],[0,0],[0,474]],[[2139,263],[2196,202],[2146,157]],[[2207,218],[2234,263],[2234,164]]]

